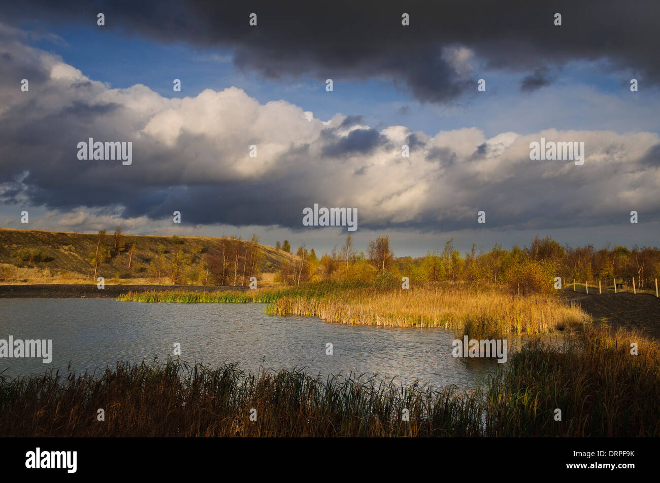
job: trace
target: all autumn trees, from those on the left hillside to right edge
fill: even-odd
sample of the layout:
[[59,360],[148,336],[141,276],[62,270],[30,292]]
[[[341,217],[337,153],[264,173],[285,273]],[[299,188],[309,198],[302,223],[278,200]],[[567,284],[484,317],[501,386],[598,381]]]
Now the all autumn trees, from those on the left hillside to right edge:
[[[127,246],[121,227],[113,235],[100,230],[96,246],[88,258],[94,267],[94,278],[100,264],[124,254],[128,268],[133,264],[135,243]],[[237,235],[218,239],[218,244],[209,253],[201,245],[192,249],[184,246],[185,241],[172,237],[176,246],[170,253],[164,245],[156,248],[154,256],[139,256],[147,263],[147,277],[156,283],[169,279],[175,285],[242,285],[249,284],[251,277],[261,279],[263,250],[259,248],[259,237],[253,235],[244,241]],[[288,240],[278,241],[276,248],[290,253]],[[389,237],[377,237],[358,250],[351,235],[329,253],[320,258],[314,249],[303,244],[295,257],[288,258],[275,275],[276,282],[300,285],[308,281],[362,281],[401,283],[408,277],[411,283],[439,282],[485,282],[504,285],[512,293],[551,292],[555,277],[563,283],[602,281],[605,286],[618,282],[630,283],[633,278],[639,289],[650,289],[653,280],[660,278],[660,249],[644,246],[607,246],[597,250],[593,244],[572,248],[561,245],[550,237],[538,236],[530,246],[521,248],[513,245],[504,250],[495,244],[490,250],[477,253],[473,244],[471,251],[461,253],[453,246],[453,239],[445,242],[442,250],[427,252],[426,256],[397,257],[390,246]],[[145,270],[141,267],[140,270]]]

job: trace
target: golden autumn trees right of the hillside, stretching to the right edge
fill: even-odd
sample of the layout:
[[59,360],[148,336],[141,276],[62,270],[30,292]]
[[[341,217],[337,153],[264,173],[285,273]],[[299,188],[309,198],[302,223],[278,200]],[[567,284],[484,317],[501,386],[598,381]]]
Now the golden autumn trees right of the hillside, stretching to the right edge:
[[390,248],[389,237],[369,242],[366,254],[358,251],[352,237],[347,236],[339,248],[317,258],[314,250],[303,245],[296,252],[298,258],[282,268],[277,280],[288,285],[305,281],[391,281],[400,283],[402,277],[411,282],[482,281],[507,287],[512,293],[551,292],[555,277],[564,283],[602,281],[612,285],[634,278],[640,289],[651,288],[660,278],[660,249],[657,247],[610,246],[595,250],[593,244],[572,248],[562,246],[550,237],[538,236],[529,247],[513,245],[504,250],[495,244],[487,252],[477,253],[473,244],[470,252],[461,254],[453,246],[453,239],[442,250],[428,252],[422,257],[396,257]]

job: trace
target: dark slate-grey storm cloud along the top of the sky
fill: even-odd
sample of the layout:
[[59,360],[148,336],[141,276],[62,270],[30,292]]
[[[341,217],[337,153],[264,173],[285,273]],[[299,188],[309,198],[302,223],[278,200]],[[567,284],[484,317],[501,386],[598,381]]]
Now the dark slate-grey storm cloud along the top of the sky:
[[[156,42],[234,49],[234,64],[267,78],[311,74],[319,80],[387,77],[422,101],[455,99],[474,81],[457,74],[442,47],[465,45],[488,67],[531,73],[523,91],[551,79],[534,72],[568,61],[607,59],[649,84],[660,82],[660,3],[641,0],[509,2],[86,1],[5,6],[15,22],[96,25]],[[401,14],[410,14],[410,26]],[[258,26],[248,25],[257,13]],[[562,26],[554,26],[554,14]]]

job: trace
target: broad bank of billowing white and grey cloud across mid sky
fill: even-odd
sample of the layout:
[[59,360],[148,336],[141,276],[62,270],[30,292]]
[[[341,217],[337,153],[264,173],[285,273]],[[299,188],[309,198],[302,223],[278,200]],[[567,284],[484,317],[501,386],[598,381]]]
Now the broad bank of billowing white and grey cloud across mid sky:
[[[359,116],[310,119],[235,87],[184,105],[145,86],[110,89],[44,51],[5,43],[11,60],[0,63],[0,82],[17,62],[45,80],[30,92],[18,82],[0,90],[3,202],[290,229],[302,229],[302,208],[315,203],[358,208],[360,229],[474,228],[479,210],[488,227],[517,229],[618,223],[632,209],[659,219],[657,134],[550,129],[488,140],[460,128],[426,138],[402,126],[356,128]],[[531,161],[529,142],[541,136],[584,139],[585,165]],[[88,137],[132,140],[133,164],[77,159]],[[413,149],[404,159],[405,142]]]

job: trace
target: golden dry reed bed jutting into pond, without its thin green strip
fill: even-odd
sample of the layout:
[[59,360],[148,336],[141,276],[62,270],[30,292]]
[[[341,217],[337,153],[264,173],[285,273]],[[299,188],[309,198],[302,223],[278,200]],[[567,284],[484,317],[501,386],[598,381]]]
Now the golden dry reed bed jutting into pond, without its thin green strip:
[[484,339],[548,333],[591,320],[556,297],[512,297],[498,289],[469,287],[348,289],[341,297],[281,297],[267,313],[315,316],[341,324],[442,327]]

